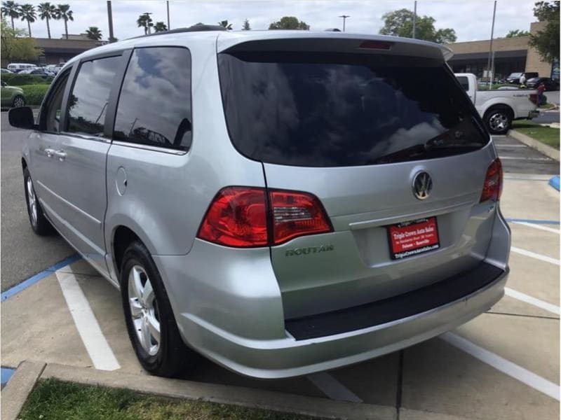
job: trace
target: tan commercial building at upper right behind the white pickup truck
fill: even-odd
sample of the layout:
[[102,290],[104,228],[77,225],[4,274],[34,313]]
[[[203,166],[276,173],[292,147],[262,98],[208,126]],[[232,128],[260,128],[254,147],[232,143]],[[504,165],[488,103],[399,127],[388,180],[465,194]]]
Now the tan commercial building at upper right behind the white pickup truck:
[[[534,22],[530,25],[530,33],[543,29],[546,22]],[[529,36],[516,38],[494,38],[494,78],[506,78],[519,71],[536,71],[540,76],[550,77],[559,64],[544,62],[539,53],[529,44]],[[481,78],[487,69],[490,41],[471,41],[447,44],[454,51],[449,64],[456,73],[474,73]]]

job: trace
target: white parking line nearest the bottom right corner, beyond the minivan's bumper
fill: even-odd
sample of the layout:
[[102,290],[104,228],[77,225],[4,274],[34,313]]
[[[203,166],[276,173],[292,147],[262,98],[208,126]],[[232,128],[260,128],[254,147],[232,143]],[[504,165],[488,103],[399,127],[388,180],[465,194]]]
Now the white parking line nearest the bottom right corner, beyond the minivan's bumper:
[[478,358],[483,363],[491,365],[496,370],[500,370],[501,372],[508,374],[508,376],[518,379],[518,381],[521,381],[527,386],[531,386],[532,388],[549,395],[551,398],[555,398],[557,401],[560,400],[560,389],[557,384],[554,384],[553,382],[526,370],[524,367],[512,363],[510,360],[506,360],[506,358],[502,358],[489,350],[483,349],[477,344],[473,344],[459,335],[452,334],[452,332],[445,332],[440,336],[440,338],[448,344],[452,344],[452,346],[471,354],[471,356],[475,358]]

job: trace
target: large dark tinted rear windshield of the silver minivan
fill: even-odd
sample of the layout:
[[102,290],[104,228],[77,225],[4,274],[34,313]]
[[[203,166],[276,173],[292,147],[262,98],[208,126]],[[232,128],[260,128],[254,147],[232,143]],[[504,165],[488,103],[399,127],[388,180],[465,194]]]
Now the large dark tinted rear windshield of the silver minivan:
[[231,141],[253,160],[376,165],[482,148],[488,135],[442,61],[370,54],[219,54]]

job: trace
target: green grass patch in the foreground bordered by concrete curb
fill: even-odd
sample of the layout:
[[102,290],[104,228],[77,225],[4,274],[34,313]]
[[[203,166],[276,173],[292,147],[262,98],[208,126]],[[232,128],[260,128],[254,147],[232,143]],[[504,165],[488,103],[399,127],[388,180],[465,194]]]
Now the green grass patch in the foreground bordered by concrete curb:
[[46,379],[29,395],[22,420],[304,420],[309,416],[193,400],[172,400],[133,391]]

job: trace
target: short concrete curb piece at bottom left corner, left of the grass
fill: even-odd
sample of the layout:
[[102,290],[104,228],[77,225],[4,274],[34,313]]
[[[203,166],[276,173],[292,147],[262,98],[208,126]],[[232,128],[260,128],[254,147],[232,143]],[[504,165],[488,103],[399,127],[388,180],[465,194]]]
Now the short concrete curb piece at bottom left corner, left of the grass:
[[1,393],[2,404],[0,416],[2,420],[15,420],[22,411],[29,393],[41,377],[46,364],[25,360],[20,363],[13,376]]

